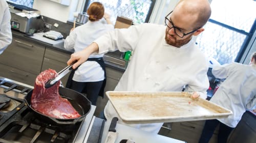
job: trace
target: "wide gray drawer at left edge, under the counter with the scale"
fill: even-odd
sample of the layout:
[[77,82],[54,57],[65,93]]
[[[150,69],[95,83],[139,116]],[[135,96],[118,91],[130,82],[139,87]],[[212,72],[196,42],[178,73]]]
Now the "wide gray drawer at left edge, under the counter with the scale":
[[8,48],[0,55],[0,63],[39,74],[44,53],[44,46],[14,38]]

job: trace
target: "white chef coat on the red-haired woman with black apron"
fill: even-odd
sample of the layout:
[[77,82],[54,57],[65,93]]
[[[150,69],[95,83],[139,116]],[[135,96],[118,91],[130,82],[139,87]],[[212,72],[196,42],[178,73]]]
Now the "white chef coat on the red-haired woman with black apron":
[[[80,51],[90,45],[96,38],[107,31],[114,30],[114,25],[103,24],[101,21],[88,21],[77,26],[65,39],[64,47]],[[89,58],[102,58],[104,54],[92,54]],[[73,80],[77,82],[95,82],[104,80],[104,71],[95,61],[84,62],[75,71]]]

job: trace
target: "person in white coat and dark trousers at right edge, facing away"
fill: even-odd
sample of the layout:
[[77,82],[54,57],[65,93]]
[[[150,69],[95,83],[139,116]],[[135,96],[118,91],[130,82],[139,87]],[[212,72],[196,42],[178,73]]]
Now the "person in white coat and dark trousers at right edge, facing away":
[[228,118],[206,120],[200,143],[208,142],[220,125],[218,142],[227,142],[230,132],[236,128],[246,110],[256,109],[256,52],[249,65],[231,63],[212,68],[216,78],[225,79],[210,99],[211,102],[233,112]]

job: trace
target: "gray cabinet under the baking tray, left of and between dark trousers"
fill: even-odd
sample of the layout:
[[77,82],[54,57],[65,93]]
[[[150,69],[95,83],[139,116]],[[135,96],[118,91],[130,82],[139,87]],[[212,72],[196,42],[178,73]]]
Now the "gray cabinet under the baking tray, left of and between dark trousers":
[[[205,121],[188,121],[164,123],[158,134],[183,140],[188,143],[198,143]],[[209,143],[217,142],[218,128]]]

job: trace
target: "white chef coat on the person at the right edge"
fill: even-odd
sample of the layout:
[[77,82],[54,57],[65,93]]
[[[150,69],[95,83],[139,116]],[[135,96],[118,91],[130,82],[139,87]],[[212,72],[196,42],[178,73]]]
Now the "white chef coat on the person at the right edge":
[[256,65],[240,63],[216,65],[212,68],[212,74],[216,78],[226,79],[210,101],[233,112],[228,118],[218,120],[234,128],[246,109],[256,108]]

